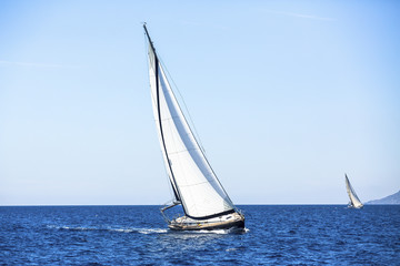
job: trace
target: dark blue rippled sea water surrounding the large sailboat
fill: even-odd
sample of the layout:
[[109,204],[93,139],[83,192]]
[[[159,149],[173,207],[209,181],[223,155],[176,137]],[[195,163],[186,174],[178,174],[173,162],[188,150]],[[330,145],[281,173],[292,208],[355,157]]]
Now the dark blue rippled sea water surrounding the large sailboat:
[[2,265],[400,265],[400,206],[240,206],[246,233],[176,233],[158,206],[0,207]]

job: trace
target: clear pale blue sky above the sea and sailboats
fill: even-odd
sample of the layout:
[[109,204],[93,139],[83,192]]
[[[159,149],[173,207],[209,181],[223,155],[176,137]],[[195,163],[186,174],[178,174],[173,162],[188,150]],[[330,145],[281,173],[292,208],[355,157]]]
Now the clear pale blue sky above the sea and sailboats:
[[142,22],[236,204],[400,190],[398,1],[0,1],[0,205],[172,197]]

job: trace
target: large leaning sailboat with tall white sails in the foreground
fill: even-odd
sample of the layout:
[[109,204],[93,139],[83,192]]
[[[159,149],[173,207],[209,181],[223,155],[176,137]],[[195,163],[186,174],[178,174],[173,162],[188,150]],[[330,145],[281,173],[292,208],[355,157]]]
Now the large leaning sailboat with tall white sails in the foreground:
[[[160,208],[168,227],[200,231],[244,227],[244,215],[233,205],[194,137],[161,65],[146,23],[153,114],[173,200]],[[181,206],[181,216],[167,209]]]

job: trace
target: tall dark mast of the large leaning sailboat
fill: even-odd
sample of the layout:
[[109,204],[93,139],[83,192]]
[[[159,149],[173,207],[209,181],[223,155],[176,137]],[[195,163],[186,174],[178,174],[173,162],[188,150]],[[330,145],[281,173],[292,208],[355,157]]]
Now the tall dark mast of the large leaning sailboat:
[[[169,167],[169,171],[171,173],[171,178],[170,178],[170,183],[171,183],[171,186],[172,186],[172,191],[173,191],[173,195],[176,197],[176,200],[178,202],[181,202],[181,197],[179,196],[179,193],[178,193],[178,185],[177,185],[177,182],[174,180],[174,176],[173,176],[173,172],[172,172],[172,167],[171,167],[171,162],[168,157],[168,153],[167,153],[167,147],[166,147],[166,140],[164,140],[164,136],[163,136],[163,132],[162,132],[162,123],[161,123],[161,112],[160,112],[160,85],[159,85],[159,60],[158,60],[158,57],[157,57],[157,53],[156,53],[156,49],[154,49],[154,45],[151,41],[151,38],[150,38],[150,34],[149,34],[149,31],[147,30],[147,27],[146,27],[146,22],[143,23],[143,28],[144,28],[144,32],[146,32],[146,35],[148,37],[149,39],[149,43],[150,43],[150,47],[152,49],[152,52],[154,53],[154,66],[156,66],[156,86],[157,86],[157,111],[158,111],[158,121],[159,121],[159,126],[160,126],[160,135],[161,135],[161,140],[162,140],[162,147],[163,147],[163,154],[166,155],[167,157],[167,163],[168,163],[168,167]],[[171,181],[172,180],[172,181]],[[174,184],[172,184],[172,182]],[[184,209],[184,208],[183,208]]]

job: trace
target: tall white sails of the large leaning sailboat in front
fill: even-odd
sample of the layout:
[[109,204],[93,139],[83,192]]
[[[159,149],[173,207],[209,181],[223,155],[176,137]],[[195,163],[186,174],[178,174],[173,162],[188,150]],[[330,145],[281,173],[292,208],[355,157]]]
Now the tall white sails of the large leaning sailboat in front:
[[184,119],[150,38],[149,75],[159,141],[176,200],[191,218],[233,212],[231,200]]

